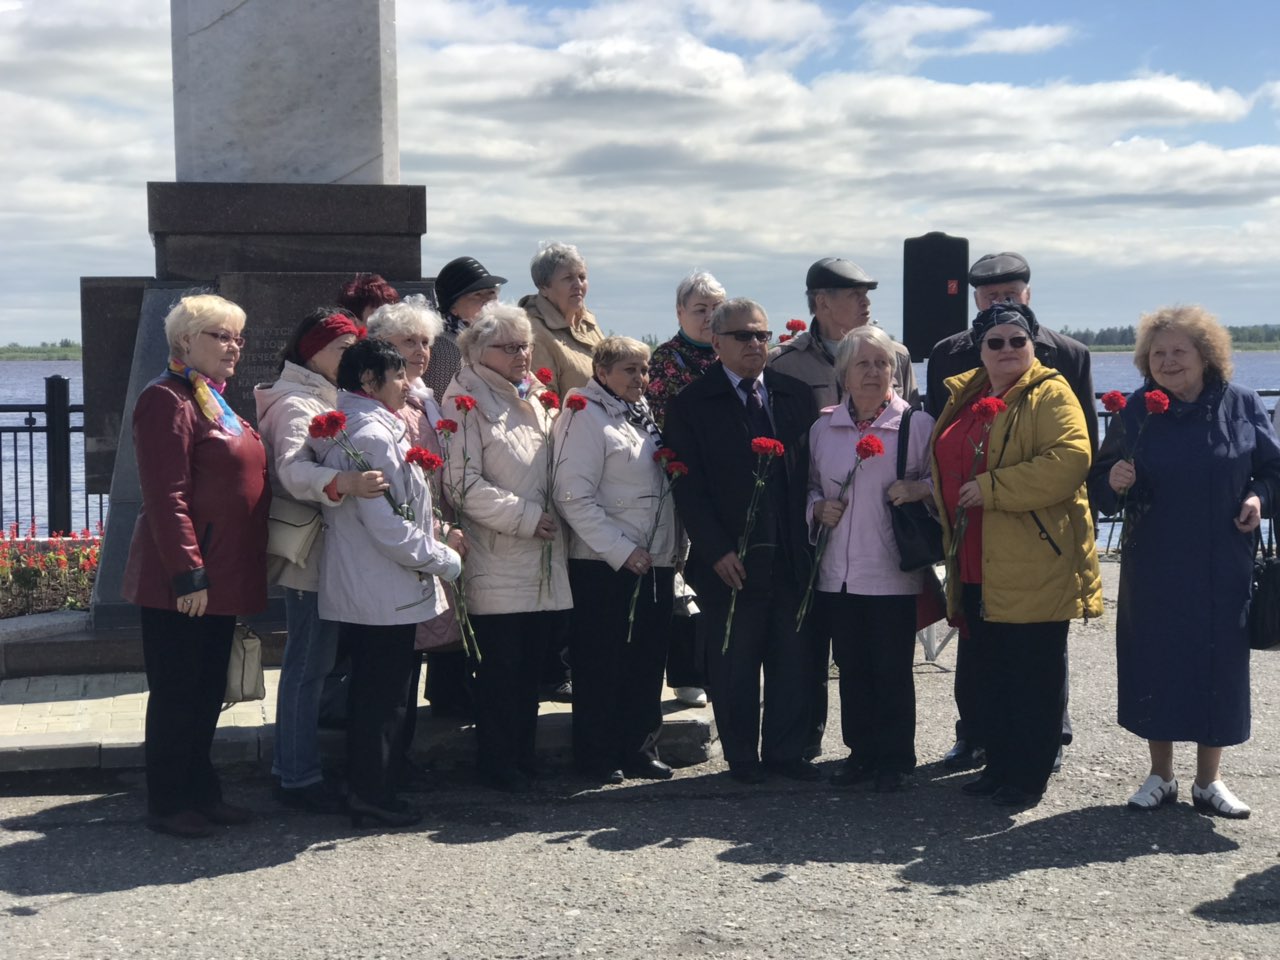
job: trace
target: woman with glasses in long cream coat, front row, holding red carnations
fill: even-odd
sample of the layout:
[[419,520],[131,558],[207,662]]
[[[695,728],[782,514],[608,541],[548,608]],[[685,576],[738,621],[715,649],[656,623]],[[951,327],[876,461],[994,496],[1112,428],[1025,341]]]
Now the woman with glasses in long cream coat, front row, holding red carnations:
[[444,493],[470,545],[476,765],[486,783],[509,791],[536,776],[539,667],[572,607],[548,484],[553,417],[540,399],[545,388],[529,375],[531,344],[522,310],[485,307],[458,337],[462,369],[440,404],[458,425],[447,439]]

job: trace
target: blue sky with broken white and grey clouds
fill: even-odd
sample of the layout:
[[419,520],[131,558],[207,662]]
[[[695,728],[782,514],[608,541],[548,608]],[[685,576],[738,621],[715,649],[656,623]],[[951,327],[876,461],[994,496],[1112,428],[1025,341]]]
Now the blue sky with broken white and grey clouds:
[[[1222,10],[1215,15],[1213,10]],[[1051,12],[1051,13],[1044,13]],[[424,273],[586,256],[607,329],[694,269],[804,311],[845,256],[901,330],[906,237],[1018,250],[1055,326],[1202,302],[1280,323],[1280,5],[399,0]],[[78,278],[145,275],[172,180],[168,0],[0,0],[0,342],[79,338]]]

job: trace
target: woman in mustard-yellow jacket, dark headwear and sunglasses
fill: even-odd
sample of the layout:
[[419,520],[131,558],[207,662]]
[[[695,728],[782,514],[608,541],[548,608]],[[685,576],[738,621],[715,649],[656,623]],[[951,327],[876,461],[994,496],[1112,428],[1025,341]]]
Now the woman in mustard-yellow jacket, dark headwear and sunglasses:
[[933,430],[947,613],[963,620],[957,655],[987,744],[986,769],[963,790],[1007,806],[1044,792],[1061,739],[1068,625],[1102,613],[1085,413],[1036,360],[1036,328],[1021,303],[979,314],[983,365],[946,381]]

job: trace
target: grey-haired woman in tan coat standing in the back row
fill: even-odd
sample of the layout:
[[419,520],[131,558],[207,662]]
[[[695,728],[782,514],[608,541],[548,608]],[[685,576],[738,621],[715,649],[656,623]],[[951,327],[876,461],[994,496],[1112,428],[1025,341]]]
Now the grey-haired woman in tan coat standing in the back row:
[[570,243],[549,243],[529,264],[538,293],[520,306],[534,325],[534,370],[547,369],[547,387],[564,394],[591,379],[591,351],[604,339],[586,308],[586,261]]

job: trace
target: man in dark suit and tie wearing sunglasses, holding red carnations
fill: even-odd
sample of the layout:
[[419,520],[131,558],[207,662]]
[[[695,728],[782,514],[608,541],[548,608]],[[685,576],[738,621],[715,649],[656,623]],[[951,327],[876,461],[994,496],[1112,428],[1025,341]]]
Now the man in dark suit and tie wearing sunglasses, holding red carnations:
[[[769,321],[758,303],[745,298],[721,303],[712,315],[712,346],[719,361],[668,403],[663,431],[667,445],[689,465],[689,476],[675,488],[676,508],[692,543],[685,575],[703,612],[724,759],[731,776],[744,783],[759,783],[769,772],[794,780],[820,777],[804,759],[812,713],[810,631],[808,622],[801,631],[795,622],[813,562],[804,504],[809,426],[818,410],[808,384],[764,369],[769,339]],[[740,561],[739,539],[755,486],[751,440],[756,436],[781,442],[785,453],[767,462],[755,527]]]

